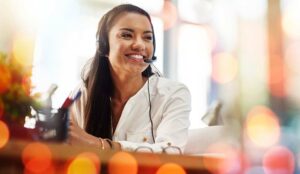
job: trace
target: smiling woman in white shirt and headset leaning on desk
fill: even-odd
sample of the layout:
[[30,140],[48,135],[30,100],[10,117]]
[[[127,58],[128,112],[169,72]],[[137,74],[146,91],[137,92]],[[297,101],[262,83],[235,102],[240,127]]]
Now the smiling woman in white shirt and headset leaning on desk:
[[70,143],[182,150],[190,93],[183,84],[154,75],[146,63],[155,52],[149,14],[134,5],[119,5],[102,17],[97,39],[96,54],[78,89],[82,95],[70,109]]

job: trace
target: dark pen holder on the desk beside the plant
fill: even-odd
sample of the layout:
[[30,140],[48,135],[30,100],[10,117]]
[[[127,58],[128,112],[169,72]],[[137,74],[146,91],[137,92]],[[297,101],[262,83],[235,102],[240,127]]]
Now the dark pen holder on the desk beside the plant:
[[67,139],[69,125],[68,109],[43,114],[37,113],[36,131],[38,139],[42,141],[62,142]]

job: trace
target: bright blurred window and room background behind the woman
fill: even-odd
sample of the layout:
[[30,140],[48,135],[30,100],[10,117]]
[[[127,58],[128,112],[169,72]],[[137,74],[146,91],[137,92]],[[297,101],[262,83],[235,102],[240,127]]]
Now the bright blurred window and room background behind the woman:
[[152,16],[154,65],[190,89],[191,129],[212,115],[237,137],[245,173],[299,173],[299,0],[0,0],[0,51],[32,67],[33,92],[57,84],[57,108],[95,53],[99,19],[125,2]]

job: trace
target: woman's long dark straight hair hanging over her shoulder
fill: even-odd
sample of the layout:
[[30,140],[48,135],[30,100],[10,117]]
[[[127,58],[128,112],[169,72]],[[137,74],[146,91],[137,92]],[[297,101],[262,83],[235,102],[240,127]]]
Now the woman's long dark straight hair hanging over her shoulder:
[[[155,36],[150,15],[143,9],[131,5],[123,4],[114,7],[108,11],[98,24],[97,50],[92,59],[90,69],[87,75],[85,70],[82,73],[82,79],[87,88],[87,103],[85,106],[85,130],[97,137],[112,139],[112,119],[110,97],[113,94],[113,81],[109,69],[109,41],[108,34],[116,18],[123,13],[137,13],[146,16],[151,24],[153,31],[153,48],[155,52]],[[153,55],[154,55],[153,52]],[[142,72],[144,77],[150,77],[153,74],[149,65]]]

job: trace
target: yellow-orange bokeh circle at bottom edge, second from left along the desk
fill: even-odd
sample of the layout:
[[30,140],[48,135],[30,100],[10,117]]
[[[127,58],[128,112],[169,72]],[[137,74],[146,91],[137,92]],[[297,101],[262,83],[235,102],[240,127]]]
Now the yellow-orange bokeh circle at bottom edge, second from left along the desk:
[[98,156],[91,152],[79,154],[69,165],[68,174],[100,173],[101,163]]

